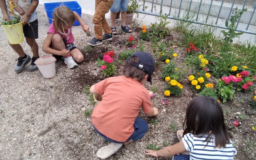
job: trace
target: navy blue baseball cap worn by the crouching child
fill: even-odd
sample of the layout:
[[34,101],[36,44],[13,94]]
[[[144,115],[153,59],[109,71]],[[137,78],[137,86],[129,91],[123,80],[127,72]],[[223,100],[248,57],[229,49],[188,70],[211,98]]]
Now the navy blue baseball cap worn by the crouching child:
[[[129,63],[129,59],[132,56],[138,57],[139,60],[140,60],[139,63],[132,63],[132,64]],[[148,77],[147,81],[149,81],[150,84],[152,85],[151,75],[155,71],[155,60],[154,60],[154,58],[149,53],[142,52],[142,51],[135,52],[130,57],[128,58],[127,63],[143,70],[146,74],[148,74],[149,77]]]

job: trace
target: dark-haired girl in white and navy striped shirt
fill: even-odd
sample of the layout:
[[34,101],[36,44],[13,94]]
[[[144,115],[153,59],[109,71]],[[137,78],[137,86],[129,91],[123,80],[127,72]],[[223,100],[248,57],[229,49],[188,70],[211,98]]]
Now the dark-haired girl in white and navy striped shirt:
[[223,110],[213,97],[199,96],[190,101],[183,128],[179,143],[159,151],[146,149],[146,154],[175,155],[174,160],[233,160],[237,154],[224,124]]

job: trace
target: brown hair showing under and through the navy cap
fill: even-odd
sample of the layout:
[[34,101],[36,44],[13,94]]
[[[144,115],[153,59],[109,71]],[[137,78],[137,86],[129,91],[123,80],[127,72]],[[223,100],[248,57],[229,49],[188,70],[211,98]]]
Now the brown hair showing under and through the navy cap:
[[131,56],[129,59],[129,63],[126,62],[126,64],[124,65],[123,68],[123,74],[127,77],[127,78],[132,78],[135,80],[138,80],[139,82],[143,80],[143,77],[145,75],[147,75],[143,70],[132,66],[130,64],[132,63],[139,63],[140,59],[136,56]]

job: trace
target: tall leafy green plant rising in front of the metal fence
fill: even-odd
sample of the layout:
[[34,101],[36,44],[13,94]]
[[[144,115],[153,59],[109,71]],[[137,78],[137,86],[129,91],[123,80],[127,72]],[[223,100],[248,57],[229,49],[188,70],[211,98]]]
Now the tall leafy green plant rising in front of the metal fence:
[[237,7],[234,9],[235,11],[235,14],[234,16],[231,16],[230,18],[230,24],[228,22],[228,20],[226,20],[225,22],[225,26],[227,27],[227,29],[229,30],[228,32],[226,32],[225,30],[221,30],[220,32],[223,33],[224,35],[224,38],[222,40],[222,51],[228,51],[228,47],[229,47],[229,43],[232,43],[233,42],[233,39],[235,37],[239,37],[239,35],[242,35],[243,33],[242,32],[239,32],[239,33],[236,33],[235,30],[237,29],[237,25],[236,25],[236,22],[237,22],[237,19],[239,17],[242,16],[243,12],[244,11],[247,11],[247,8],[244,8],[243,10],[241,11],[237,11]]

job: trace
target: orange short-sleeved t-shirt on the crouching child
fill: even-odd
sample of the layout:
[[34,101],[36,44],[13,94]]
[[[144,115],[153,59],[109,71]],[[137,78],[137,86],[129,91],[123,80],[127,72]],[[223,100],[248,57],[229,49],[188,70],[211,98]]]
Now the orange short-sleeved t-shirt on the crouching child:
[[134,132],[133,124],[139,114],[152,109],[148,90],[137,80],[126,76],[110,77],[95,85],[102,101],[91,114],[91,123],[106,137],[118,142]]

